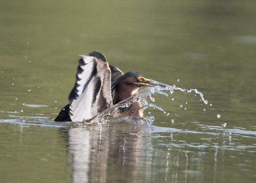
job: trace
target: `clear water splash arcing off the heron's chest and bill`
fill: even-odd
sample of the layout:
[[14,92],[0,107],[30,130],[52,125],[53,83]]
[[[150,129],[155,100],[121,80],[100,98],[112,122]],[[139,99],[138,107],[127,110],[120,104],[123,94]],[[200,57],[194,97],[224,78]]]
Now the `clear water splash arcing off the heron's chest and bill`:
[[[157,109],[158,111],[163,112],[164,114],[166,114],[166,111],[164,111],[164,109],[162,107],[157,106],[156,104],[150,104],[147,100],[147,97],[149,97],[150,101],[155,102],[154,97],[152,97],[152,95],[158,93],[161,95],[165,95],[166,97],[168,97],[168,93],[163,92],[163,91],[169,91],[171,94],[177,90],[180,92],[184,92],[184,93],[191,93],[191,92],[195,92],[195,95],[199,95],[200,96],[200,100],[202,100],[204,102],[204,104],[208,104],[208,100],[204,99],[204,95],[203,93],[199,92],[197,89],[184,89],[184,88],[179,88],[175,85],[170,86],[168,84],[164,84],[164,83],[159,83],[158,81],[154,81],[154,80],[150,80],[150,82],[156,84],[156,86],[154,87],[150,87],[150,88],[144,88],[143,90],[140,90],[139,92],[137,92],[136,94],[132,95],[131,97],[129,97],[128,99],[119,102],[118,104],[115,104],[115,106],[110,107],[109,109],[107,109],[106,111],[103,111],[102,113],[100,113],[100,115],[95,116],[95,118],[93,118],[92,120],[86,121],[86,123],[104,123],[104,122],[109,122],[109,121],[115,121],[116,118],[119,119],[119,121],[134,121],[134,122],[138,122],[138,118],[134,117],[134,115],[132,113],[136,113],[137,111],[129,111],[129,115],[127,115],[127,113],[122,113],[123,111],[125,111],[127,108],[129,108],[132,104],[139,104],[141,107],[141,110],[145,110],[148,107],[152,107],[153,109]],[[174,99],[172,99],[174,100]],[[182,106],[183,107],[183,106]],[[170,113],[167,113],[169,116]],[[150,121],[150,123],[152,122],[152,120],[154,120],[154,118],[150,118],[148,119]],[[174,120],[173,120],[174,122]]]

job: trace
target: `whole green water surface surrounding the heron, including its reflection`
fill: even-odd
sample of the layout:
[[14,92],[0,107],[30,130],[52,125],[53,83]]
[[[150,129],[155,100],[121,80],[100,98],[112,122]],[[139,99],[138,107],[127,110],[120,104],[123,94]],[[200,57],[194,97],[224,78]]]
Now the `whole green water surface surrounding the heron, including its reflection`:
[[[1,1],[1,182],[255,182],[255,6]],[[167,91],[151,126],[52,122],[94,50],[209,104]]]

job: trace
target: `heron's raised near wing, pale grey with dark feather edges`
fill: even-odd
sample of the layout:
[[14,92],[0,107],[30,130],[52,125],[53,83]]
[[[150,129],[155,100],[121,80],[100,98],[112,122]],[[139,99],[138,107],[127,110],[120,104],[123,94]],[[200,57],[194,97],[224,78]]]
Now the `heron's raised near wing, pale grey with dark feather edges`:
[[72,122],[88,120],[113,106],[111,70],[104,56],[97,57],[91,53],[79,60],[76,84],[68,97]]

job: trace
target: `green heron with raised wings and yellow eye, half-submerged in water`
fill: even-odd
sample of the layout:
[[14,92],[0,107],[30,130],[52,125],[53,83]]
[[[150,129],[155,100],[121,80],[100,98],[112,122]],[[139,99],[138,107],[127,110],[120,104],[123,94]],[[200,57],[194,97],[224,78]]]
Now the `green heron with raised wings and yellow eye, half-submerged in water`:
[[[69,104],[55,118],[58,122],[82,122],[99,115],[138,92],[140,87],[154,86],[153,80],[137,72],[123,73],[109,65],[106,57],[93,51],[80,56],[76,83],[68,97]],[[140,102],[130,106],[133,114],[142,118]]]

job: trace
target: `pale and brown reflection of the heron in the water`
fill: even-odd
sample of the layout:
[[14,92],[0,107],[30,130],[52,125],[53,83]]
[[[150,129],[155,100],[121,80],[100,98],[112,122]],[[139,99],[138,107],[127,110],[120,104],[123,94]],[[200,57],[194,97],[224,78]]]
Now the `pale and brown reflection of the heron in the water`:
[[70,128],[68,150],[73,182],[141,180],[145,176],[145,164],[152,157],[149,155],[151,143],[143,138],[144,133],[143,124],[138,123],[114,122]]

